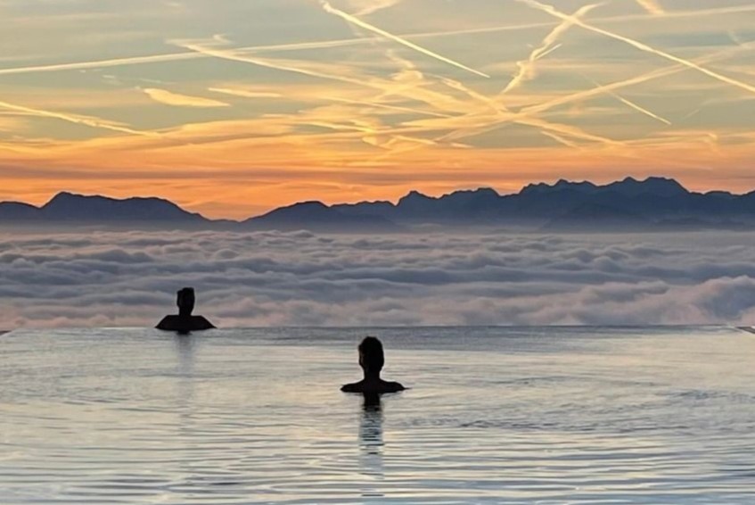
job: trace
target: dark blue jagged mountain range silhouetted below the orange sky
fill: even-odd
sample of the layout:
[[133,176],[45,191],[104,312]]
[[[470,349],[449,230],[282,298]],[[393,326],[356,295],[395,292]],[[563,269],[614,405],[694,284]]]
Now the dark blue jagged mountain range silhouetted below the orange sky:
[[412,191],[398,203],[294,203],[232,221],[207,219],[161,198],[118,200],[63,192],[41,207],[0,203],[4,225],[114,225],[131,228],[310,229],[390,232],[417,226],[513,226],[545,230],[755,228],[755,192],[693,193],[672,178],[625,178],[599,186],[560,180],[513,195],[483,187],[439,197]]

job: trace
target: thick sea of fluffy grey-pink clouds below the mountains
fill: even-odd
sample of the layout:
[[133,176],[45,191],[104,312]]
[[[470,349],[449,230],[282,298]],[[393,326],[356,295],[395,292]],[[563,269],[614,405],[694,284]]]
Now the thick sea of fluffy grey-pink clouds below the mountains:
[[755,237],[0,232],[0,329],[755,324]]

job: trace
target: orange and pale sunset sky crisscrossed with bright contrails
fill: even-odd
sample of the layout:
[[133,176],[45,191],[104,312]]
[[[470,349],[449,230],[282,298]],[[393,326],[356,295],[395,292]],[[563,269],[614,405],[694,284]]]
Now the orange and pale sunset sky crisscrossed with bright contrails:
[[0,0],[0,200],[755,188],[751,0]]

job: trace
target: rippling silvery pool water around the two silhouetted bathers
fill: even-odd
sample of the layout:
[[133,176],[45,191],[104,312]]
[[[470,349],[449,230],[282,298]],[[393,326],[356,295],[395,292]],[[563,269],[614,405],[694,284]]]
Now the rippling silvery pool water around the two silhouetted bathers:
[[[365,406],[365,334],[414,387]],[[755,503],[726,328],[16,331],[0,503]]]

